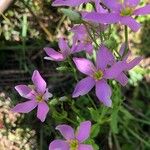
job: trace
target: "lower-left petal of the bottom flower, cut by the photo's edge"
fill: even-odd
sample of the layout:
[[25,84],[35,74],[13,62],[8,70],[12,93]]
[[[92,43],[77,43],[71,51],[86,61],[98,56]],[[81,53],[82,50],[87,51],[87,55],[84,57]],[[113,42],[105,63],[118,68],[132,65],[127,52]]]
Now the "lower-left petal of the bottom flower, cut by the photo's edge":
[[49,150],[69,150],[69,144],[64,140],[54,140],[50,143]]

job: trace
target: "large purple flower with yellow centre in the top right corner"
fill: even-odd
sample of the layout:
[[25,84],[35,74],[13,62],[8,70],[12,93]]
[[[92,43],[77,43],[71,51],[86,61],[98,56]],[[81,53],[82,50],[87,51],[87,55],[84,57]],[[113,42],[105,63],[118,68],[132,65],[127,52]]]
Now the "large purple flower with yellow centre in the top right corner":
[[136,9],[139,2],[140,0],[103,0],[111,12],[90,12],[84,19],[102,24],[121,23],[136,32],[139,30],[140,24],[136,22],[133,16],[150,14],[150,5]]

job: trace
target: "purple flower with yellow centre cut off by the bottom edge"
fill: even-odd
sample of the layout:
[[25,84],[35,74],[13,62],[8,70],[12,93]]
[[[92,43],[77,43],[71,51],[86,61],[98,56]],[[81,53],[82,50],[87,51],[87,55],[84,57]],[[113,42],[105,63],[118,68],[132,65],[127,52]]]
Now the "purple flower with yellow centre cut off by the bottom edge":
[[65,140],[54,140],[49,145],[49,150],[93,150],[88,144],[82,144],[88,139],[91,130],[91,122],[82,122],[75,133],[69,125],[58,125],[57,130],[62,134]]

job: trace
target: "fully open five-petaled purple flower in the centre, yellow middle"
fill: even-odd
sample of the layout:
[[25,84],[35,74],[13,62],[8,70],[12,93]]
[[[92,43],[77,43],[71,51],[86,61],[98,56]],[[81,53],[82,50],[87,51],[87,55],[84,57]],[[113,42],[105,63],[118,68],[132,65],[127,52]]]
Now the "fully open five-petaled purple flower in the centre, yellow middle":
[[[96,96],[106,106],[111,107],[112,101],[111,88],[107,84],[107,79],[115,79],[124,70],[126,64],[122,61],[114,63],[112,53],[102,45],[97,52],[96,66],[85,58],[74,58],[77,69],[86,78],[79,81],[73,92],[73,97],[87,94],[94,86],[96,86]],[[112,64],[112,65],[111,65]]]

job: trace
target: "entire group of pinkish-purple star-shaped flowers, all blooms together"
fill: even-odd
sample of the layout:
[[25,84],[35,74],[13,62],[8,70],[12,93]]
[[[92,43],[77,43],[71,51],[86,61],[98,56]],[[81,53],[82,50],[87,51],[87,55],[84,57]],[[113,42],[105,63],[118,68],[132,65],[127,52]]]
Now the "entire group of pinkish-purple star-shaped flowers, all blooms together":
[[[108,81],[116,80],[125,86],[128,82],[127,72],[135,67],[142,58],[136,57],[129,61],[131,51],[127,36],[120,50],[118,52],[115,50],[118,55],[116,57],[114,50],[105,44],[106,39],[101,33],[104,34],[109,25],[114,23],[120,23],[135,32],[138,31],[140,24],[133,17],[149,14],[150,5],[137,8],[139,0],[55,0],[52,5],[77,7],[83,3],[93,4],[94,10],[78,12],[81,22],[70,30],[73,33],[72,45],[70,46],[66,39],[60,38],[59,51],[51,47],[44,48],[47,54],[45,59],[60,62],[71,58],[76,68],[86,75],[75,86],[72,98],[87,94],[95,86],[98,100],[105,106],[112,107],[112,90]],[[127,35],[127,30],[125,32]],[[89,54],[95,62],[92,59],[78,57],[79,52]],[[37,70],[33,72],[32,81],[33,85],[15,87],[17,92],[28,100],[16,105],[12,111],[28,113],[37,107],[37,118],[44,122],[49,111],[48,100],[52,94],[48,92],[46,82]],[[60,131],[65,140],[54,140],[50,143],[49,150],[92,150],[91,145],[82,144],[89,137],[90,128],[90,121],[82,122],[76,133],[68,125],[58,125],[56,129]]]

